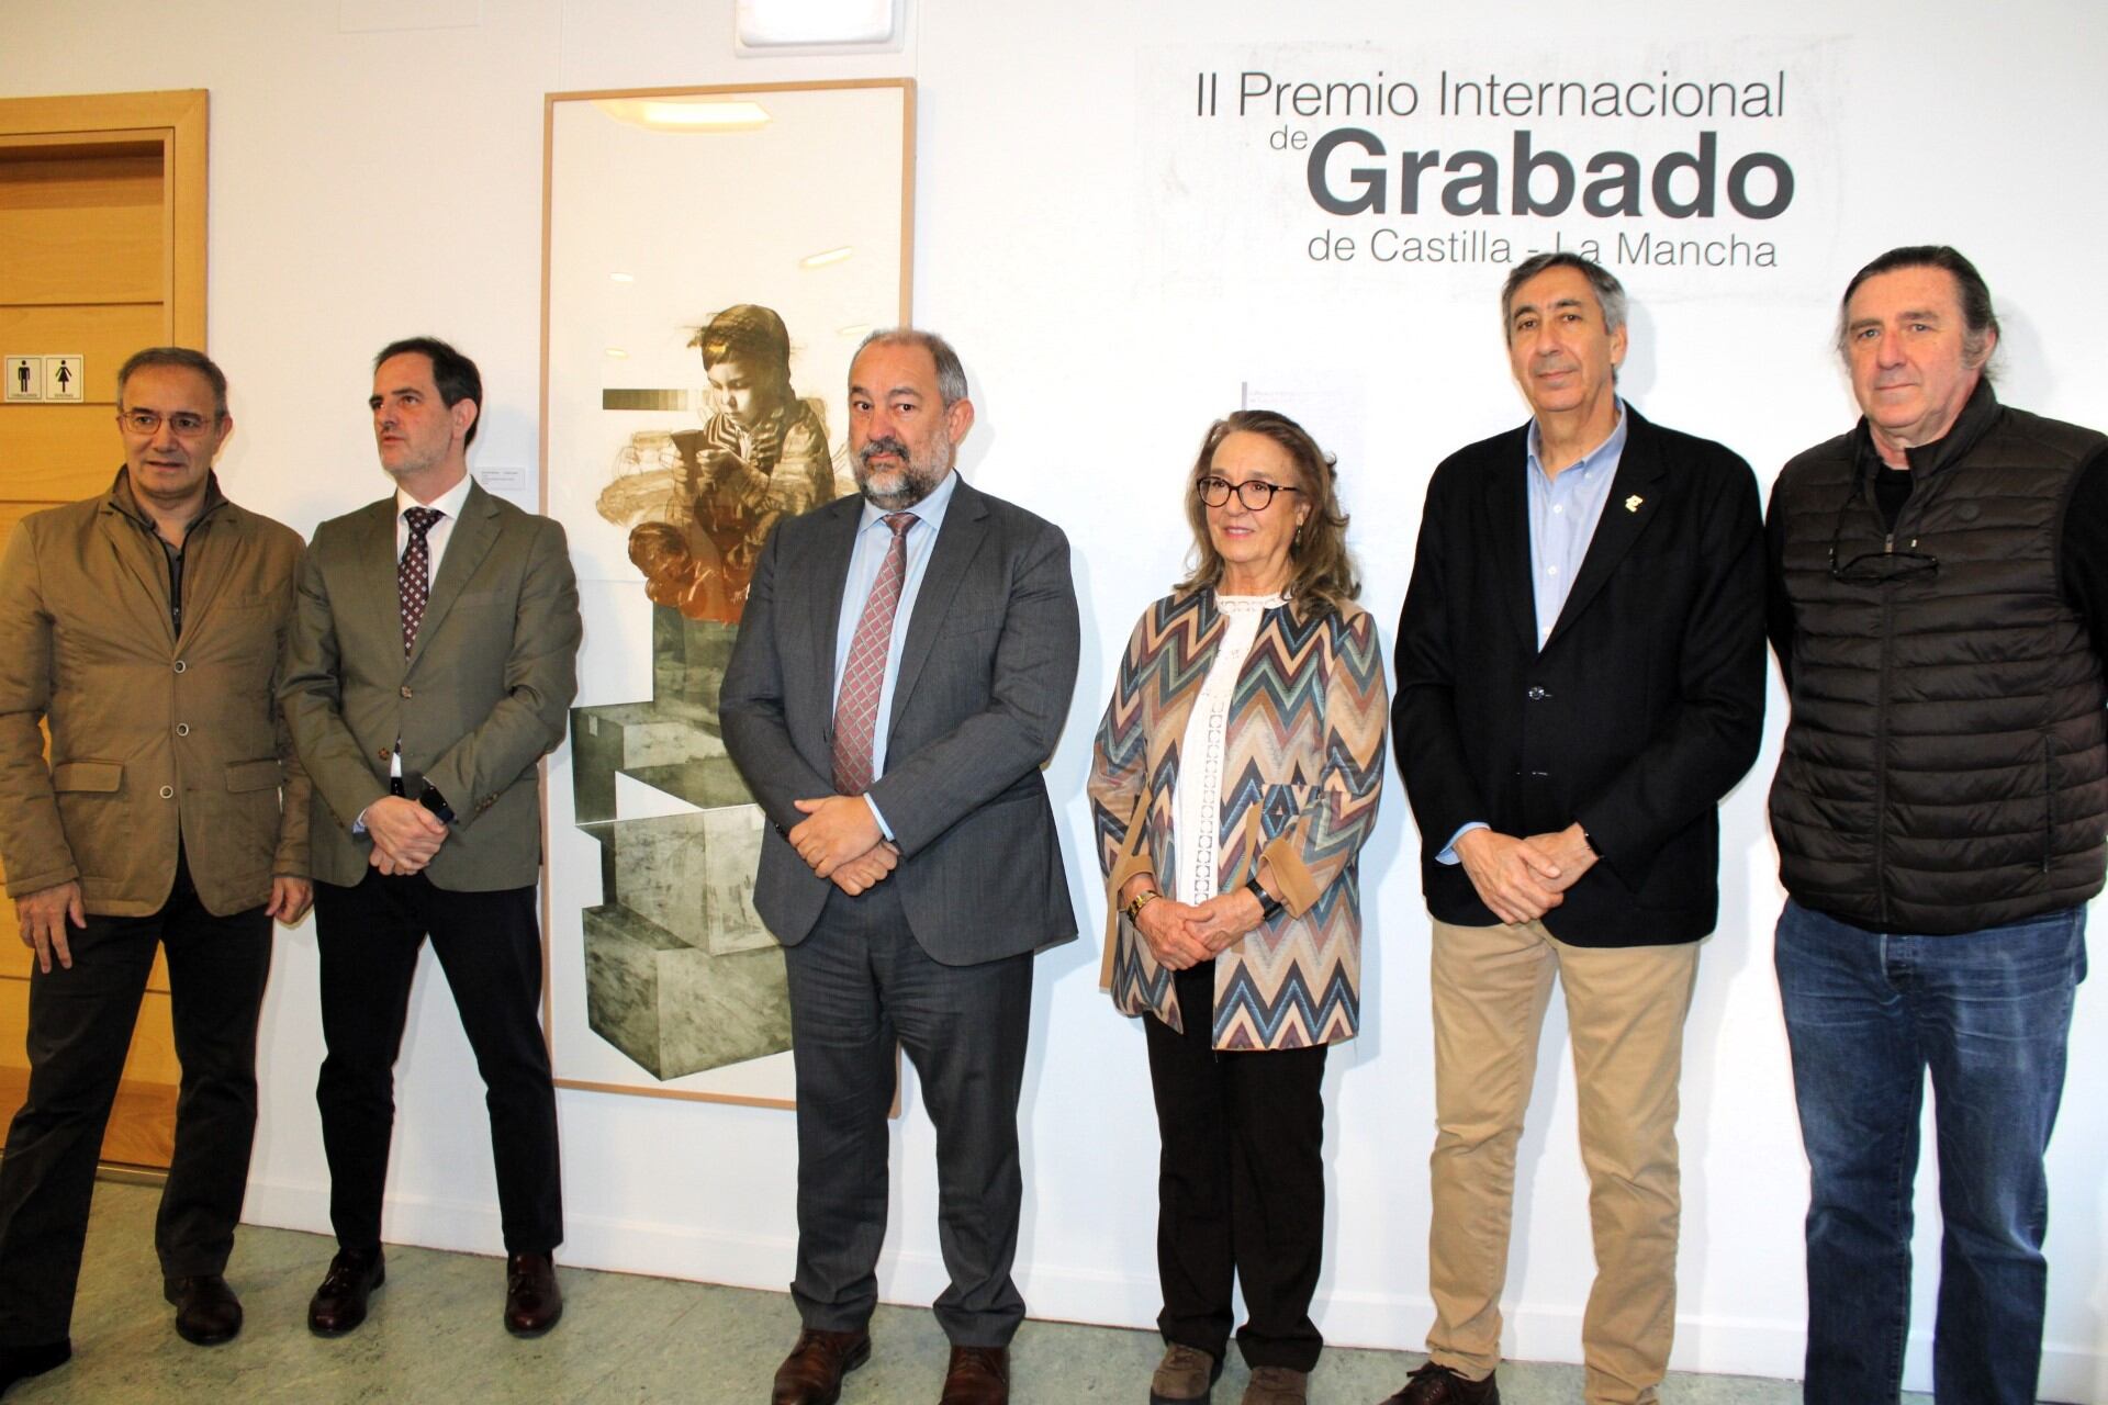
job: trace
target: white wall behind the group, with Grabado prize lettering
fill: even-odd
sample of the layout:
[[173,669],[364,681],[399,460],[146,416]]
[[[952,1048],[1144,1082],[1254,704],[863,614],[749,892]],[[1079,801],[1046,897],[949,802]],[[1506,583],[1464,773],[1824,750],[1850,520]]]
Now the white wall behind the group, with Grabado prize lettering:
[[[915,310],[963,350],[980,423],[970,476],[1062,520],[1077,546],[1086,651],[1050,781],[1069,832],[1086,939],[1041,958],[1027,1079],[1029,1207],[1020,1281],[1035,1314],[1153,1319],[1153,1165],[1140,1032],[1096,990],[1102,895],[1081,779],[1117,640],[1172,579],[1178,487],[1191,447],[1240,385],[1339,392],[1343,463],[1366,600],[1395,619],[1427,470],[1520,421],[1495,339],[1497,268],[1442,278],[1364,265],[1334,276],[1250,265],[1248,221],[1284,215],[1282,175],[1170,192],[1164,76],[1208,48],[1322,63],[1433,63],[1427,55],[1535,53],[1568,67],[1625,48],[1792,48],[1811,103],[1798,268],[1771,280],[1625,270],[1640,305],[1627,373],[1659,421],[1726,440],[1762,478],[1842,430],[1851,402],[1826,339],[1830,299],[1897,242],[1969,251],[2007,322],[2005,394],[2108,423],[2083,369],[2100,312],[2072,272],[2108,227],[2093,143],[2108,126],[2102,11],[2024,0],[1994,27],[1977,4],[1777,0],[1693,8],[1608,0],[1507,6],[1505,36],[1476,11],[1383,0],[1296,6],[1075,0],[1029,23],[1014,6],[917,0],[904,53],[738,61],[727,0],[105,0],[53,8],[0,0],[0,95],[202,86],[213,95],[211,350],[234,377],[240,423],[223,480],[299,529],[384,491],[363,415],[367,358],[436,331],[483,364],[491,390],[479,466],[538,457],[542,93],[909,74],[919,82]],[[348,15],[466,27],[346,32]],[[1676,34],[1665,40],[1663,27]],[[1505,46],[1505,48],[1503,48]],[[1419,55],[1419,57],[1417,57]],[[2091,61],[2089,61],[2091,59]],[[1440,139],[1440,128],[1436,137]],[[1455,145],[1455,141],[1442,141]],[[843,150],[841,162],[864,154]],[[1212,169],[1199,164],[1195,169]],[[1176,181],[1170,181],[1172,185]],[[1206,217],[1223,263],[1166,268]],[[1781,225],[1788,221],[1781,221]],[[6,251],[0,251],[6,257]],[[1180,253],[1185,257],[1185,253]],[[1242,261],[1242,263],[1240,263]],[[1651,297],[1655,291],[1655,297]],[[1351,421],[1351,423],[1349,423]],[[582,701],[599,701],[588,695]],[[1777,693],[1773,695],[1777,704]],[[1724,807],[1722,923],[1707,944],[1684,1076],[1684,1249],[1678,1367],[1798,1376],[1804,1161],[1769,971],[1781,893],[1762,794],[1779,716],[1756,771]],[[1408,739],[1410,741],[1410,739]],[[1368,1032],[1328,1074],[1330,1255],[1320,1323],[1334,1342],[1414,1348],[1427,1327],[1427,918],[1417,836],[1395,779],[1364,859]],[[559,847],[559,855],[567,845]],[[405,1041],[390,1180],[394,1239],[497,1249],[481,1089],[436,969]],[[327,1226],[312,1104],[320,1062],[312,929],[282,937],[264,1030],[266,1110],[251,1215]],[[2108,1399],[2108,1062],[2102,982],[2081,992],[2072,1093],[2051,1154],[2055,1215],[2045,1394]],[[1564,1034],[1554,1013],[1547,1049]],[[1575,1152],[1573,1085],[1547,1053],[1524,1140],[1509,1279],[1509,1348],[1579,1354],[1592,1260]],[[729,1106],[561,1095],[571,1264],[780,1287],[790,1277],[790,1116]],[[925,1302],[940,1283],[932,1135],[917,1095],[896,1127],[894,1234],[883,1291]],[[1910,1371],[1927,1380],[1937,1201],[1920,1175],[1918,1314]],[[320,1266],[318,1266],[320,1268]],[[784,1331],[793,1314],[784,1310]]]

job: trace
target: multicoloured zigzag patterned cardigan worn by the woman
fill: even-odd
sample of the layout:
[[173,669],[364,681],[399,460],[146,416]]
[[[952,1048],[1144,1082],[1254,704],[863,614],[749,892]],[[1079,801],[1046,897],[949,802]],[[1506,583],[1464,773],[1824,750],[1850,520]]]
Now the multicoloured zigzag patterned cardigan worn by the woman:
[[[1126,1015],[1185,1024],[1172,971],[1119,912],[1149,872],[1176,891],[1174,794],[1187,716],[1225,617],[1212,590],[1143,613],[1098,725],[1090,811],[1105,870],[1102,984]],[[1360,1026],[1362,887],[1355,855],[1377,819],[1389,704],[1368,611],[1296,621],[1265,613],[1223,729],[1221,891],[1265,872],[1284,910],[1214,961],[1216,1049],[1303,1049]]]

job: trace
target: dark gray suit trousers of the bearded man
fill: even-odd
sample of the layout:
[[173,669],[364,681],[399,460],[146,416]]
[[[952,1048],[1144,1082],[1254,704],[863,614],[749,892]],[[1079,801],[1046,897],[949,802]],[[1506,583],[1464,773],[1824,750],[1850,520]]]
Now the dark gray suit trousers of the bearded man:
[[1018,1089],[1033,958],[946,967],[915,942],[892,883],[828,893],[820,923],[784,948],[797,1068],[797,1277],[807,1327],[854,1331],[879,1300],[885,1114],[894,1045],[906,1049],[936,1125],[938,1247],[951,1287],[936,1319],[955,1346],[1008,1346],[1024,1319],[1018,1251]]

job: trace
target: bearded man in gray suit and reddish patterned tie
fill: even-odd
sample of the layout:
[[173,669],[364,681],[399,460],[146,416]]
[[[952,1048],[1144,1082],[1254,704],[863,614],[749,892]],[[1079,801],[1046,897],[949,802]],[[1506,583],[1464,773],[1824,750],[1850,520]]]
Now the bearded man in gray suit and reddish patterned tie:
[[942,337],[873,333],[850,364],[862,495],[778,525],[725,670],[797,1066],[805,1329],[774,1405],[831,1405],[871,1354],[896,1041],[938,1133],[942,1401],[1010,1399],[1031,958],[1075,935],[1039,767],[1077,611],[1060,529],[951,472],[972,423]]

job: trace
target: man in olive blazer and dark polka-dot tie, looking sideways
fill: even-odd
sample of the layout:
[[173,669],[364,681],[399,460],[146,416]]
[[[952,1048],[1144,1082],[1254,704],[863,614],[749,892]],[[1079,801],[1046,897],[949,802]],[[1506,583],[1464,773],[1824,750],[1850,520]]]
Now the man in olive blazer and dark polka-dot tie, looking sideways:
[[314,777],[316,1087],[337,1255],[308,1327],[339,1335],[382,1285],[394,1060],[430,937],[489,1089],[508,1253],[504,1323],[557,1325],[557,1093],[542,1041],[535,876],[544,752],[578,691],[578,581],[563,527],[468,476],[483,377],[445,341],[373,360],[392,497],[323,522],[299,573],[280,689]]

